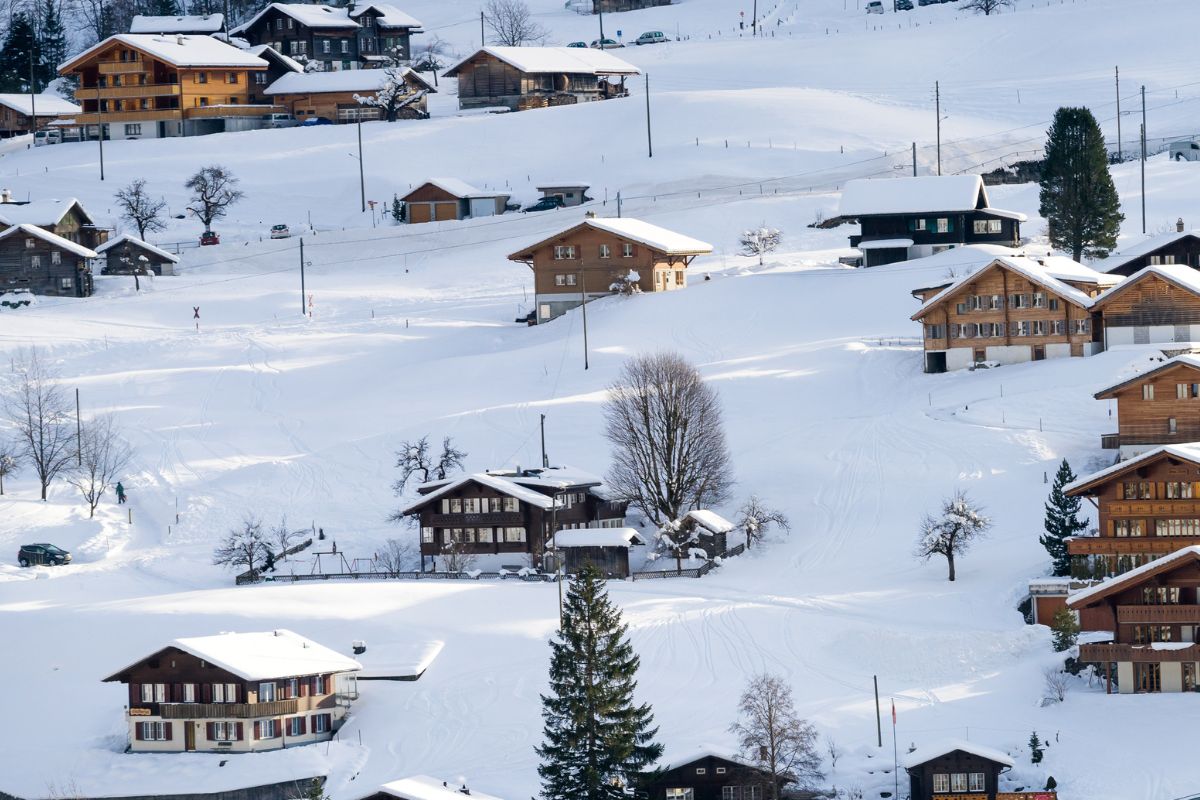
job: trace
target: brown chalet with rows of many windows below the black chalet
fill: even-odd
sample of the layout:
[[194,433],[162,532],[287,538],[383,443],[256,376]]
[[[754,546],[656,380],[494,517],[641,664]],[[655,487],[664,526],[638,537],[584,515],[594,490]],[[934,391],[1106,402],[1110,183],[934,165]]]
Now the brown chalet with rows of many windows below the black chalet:
[[1120,278],[1067,258],[1001,257],[919,290],[925,372],[1099,353],[1094,297]]

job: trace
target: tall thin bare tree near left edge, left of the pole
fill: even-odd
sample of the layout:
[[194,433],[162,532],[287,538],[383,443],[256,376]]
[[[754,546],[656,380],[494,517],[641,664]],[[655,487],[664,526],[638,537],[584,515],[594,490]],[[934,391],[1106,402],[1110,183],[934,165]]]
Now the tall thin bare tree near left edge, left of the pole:
[[71,401],[58,375],[44,367],[36,350],[16,365],[16,383],[5,397],[5,410],[17,427],[18,450],[37,473],[42,499],[50,483],[76,458],[76,423]]

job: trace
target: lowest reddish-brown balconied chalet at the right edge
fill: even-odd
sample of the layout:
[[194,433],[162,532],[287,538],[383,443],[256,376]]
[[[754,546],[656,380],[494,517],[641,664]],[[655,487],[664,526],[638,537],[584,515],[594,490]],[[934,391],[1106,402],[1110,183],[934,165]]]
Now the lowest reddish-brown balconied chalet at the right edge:
[[1067,601],[1092,610],[1079,660],[1099,664],[1121,694],[1194,692],[1200,667],[1200,547],[1184,547]]

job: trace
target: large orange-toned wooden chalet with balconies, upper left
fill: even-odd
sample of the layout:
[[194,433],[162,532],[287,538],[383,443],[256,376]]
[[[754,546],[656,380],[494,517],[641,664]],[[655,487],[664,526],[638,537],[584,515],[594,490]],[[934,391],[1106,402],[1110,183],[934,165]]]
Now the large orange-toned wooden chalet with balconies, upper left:
[[59,67],[79,80],[73,136],[155,139],[263,127],[283,109],[252,101],[264,60],[212,36],[118,34]]

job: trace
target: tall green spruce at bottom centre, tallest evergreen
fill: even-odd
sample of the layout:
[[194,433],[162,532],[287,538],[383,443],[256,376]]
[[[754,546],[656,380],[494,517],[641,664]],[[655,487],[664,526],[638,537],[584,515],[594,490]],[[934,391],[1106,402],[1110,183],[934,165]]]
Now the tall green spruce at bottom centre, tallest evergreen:
[[625,800],[624,786],[662,754],[649,705],[634,704],[640,658],[600,572],[571,582],[562,630],[550,643],[550,693],[538,747],[546,800]]

